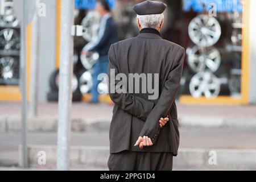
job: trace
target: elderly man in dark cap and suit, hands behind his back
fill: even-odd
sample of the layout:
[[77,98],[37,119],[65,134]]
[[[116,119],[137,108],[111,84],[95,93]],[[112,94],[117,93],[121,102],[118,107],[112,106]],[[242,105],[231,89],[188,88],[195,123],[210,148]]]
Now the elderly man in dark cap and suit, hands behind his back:
[[[175,97],[185,51],[160,36],[166,7],[156,1],[135,5],[140,34],[110,46],[109,77],[113,72],[119,78],[122,74],[122,79],[110,79],[110,97],[115,104],[110,125],[110,170],[172,170],[172,157],[179,147]],[[146,86],[143,79],[139,89],[123,79],[132,73],[140,78],[143,74],[154,76],[146,84],[156,85],[158,98],[151,100],[152,93],[141,92]],[[127,92],[118,92],[123,89]]]

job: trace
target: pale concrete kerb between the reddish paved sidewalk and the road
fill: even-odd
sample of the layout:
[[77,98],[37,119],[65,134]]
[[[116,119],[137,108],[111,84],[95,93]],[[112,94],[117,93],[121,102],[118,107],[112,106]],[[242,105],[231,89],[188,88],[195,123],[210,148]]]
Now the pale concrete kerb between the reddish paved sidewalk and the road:
[[[71,129],[76,132],[108,131],[111,117],[72,118]],[[180,126],[185,127],[230,127],[256,129],[256,117],[204,117],[200,115],[181,115]],[[19,117],[0,117],[0,133],[20,131]],[[28,119],[28,131],[57,131],[57,117],[37,117]]]

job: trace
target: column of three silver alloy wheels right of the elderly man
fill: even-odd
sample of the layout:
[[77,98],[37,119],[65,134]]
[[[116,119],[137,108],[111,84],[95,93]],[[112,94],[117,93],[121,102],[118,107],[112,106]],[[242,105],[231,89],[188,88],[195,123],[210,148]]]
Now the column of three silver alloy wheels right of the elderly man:
[[198,15],[189,23],[188,34],[194,45],[187,48],[187,64],[195,74],[189,92],[195,98],[217,97],[221,83],[214,73],[220,68],[221,55],[213,45],[221,36],[220,23],[209,15]]

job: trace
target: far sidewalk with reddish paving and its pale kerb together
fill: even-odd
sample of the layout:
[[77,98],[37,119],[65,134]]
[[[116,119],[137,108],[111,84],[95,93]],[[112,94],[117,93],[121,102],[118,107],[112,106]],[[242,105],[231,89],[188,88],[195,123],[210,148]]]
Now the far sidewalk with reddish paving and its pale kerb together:
[[[56,103],[39,104],[38,117],[28,119],[29,131],[57,130]],[[113,105],[73,103],[72,130],[108,130]],[[177,105],[180,126],[247,127],[256,129],[256,106]],[[20,104],[0,103],[0,132],[20,130]]]

